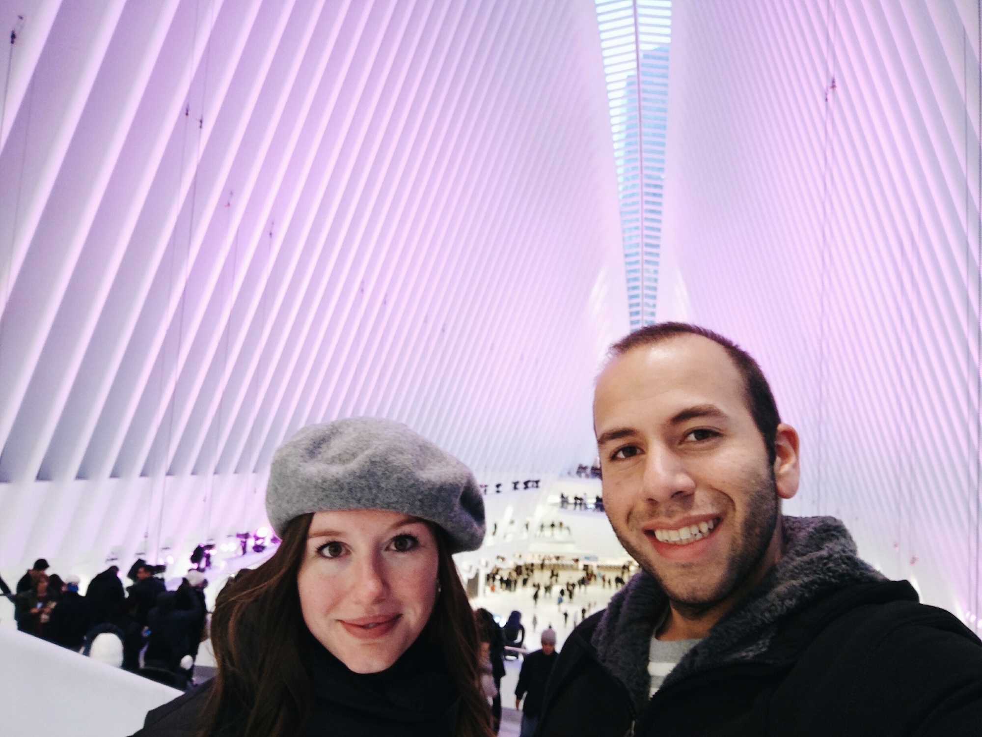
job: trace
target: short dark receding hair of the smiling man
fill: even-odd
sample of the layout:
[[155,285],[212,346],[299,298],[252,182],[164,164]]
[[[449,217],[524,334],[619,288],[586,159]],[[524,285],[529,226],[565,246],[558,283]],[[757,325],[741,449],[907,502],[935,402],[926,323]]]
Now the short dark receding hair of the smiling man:
[[774,445],[778,434],[778,425],[781,424],[781,416],[778,414],[778,404],[774,401],[774,394],[771,392],[771,385],[767,383],[767,378],[760,366],[753,357],[740,348],[729,338],[724,338],[719,333],[713,332],[705,327],[690,325],[687,322],[658,322],[654,325],[647,325],[632,333],[628,333],[624,338],[611,346],[612,357],[623,356],[627,351],[639,346],[654,345],[662,341],[676,338],[680,335],[701,335],[708,338],[730,356],[734,362],[736,370],[743,378],[743,389],[746,393],[747,408],[753,417],[753,422],[760,430],[764,438],[764,445],[767,447],[767,457],[770,464],[774,465],[777,458],[777,448]]

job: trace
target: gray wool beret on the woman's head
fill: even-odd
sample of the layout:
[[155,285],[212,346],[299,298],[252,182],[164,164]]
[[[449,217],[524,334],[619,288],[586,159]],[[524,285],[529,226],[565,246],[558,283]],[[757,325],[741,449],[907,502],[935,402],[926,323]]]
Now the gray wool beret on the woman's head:
[[307,425],[276,449],[266,487],[273,530],[308,512],[385,509],[428,520],[451,552],[484,541],[484,500],[459,460],[406,425],[351,418]]

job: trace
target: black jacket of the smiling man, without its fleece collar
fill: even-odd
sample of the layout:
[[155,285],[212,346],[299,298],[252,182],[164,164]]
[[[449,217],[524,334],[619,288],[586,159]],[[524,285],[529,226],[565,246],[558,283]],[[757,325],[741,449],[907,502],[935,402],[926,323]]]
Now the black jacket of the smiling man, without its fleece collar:
[[828,595],[765,652],[669,682],[643,709],[591,644],[602,614],[567,640],[537,737],[982,734],[982,643],[903,581]]

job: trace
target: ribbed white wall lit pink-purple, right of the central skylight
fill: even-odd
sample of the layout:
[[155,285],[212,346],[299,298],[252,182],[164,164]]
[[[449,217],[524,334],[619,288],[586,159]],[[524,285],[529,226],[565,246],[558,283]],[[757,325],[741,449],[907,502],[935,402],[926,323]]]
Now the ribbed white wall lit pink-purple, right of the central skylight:
[[673,10],[659,317],[760,360],[802,436],[789,512],[974,623],[978,5]]

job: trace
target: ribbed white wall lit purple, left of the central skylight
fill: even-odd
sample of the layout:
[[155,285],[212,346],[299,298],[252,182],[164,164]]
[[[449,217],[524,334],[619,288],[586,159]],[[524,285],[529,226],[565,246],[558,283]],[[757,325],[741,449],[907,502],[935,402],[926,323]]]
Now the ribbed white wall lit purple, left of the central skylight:
[[592,459],[627,299],[590,0],[0,24],[0,568],[254,529],[273,449],[338,417],[479,474]]

